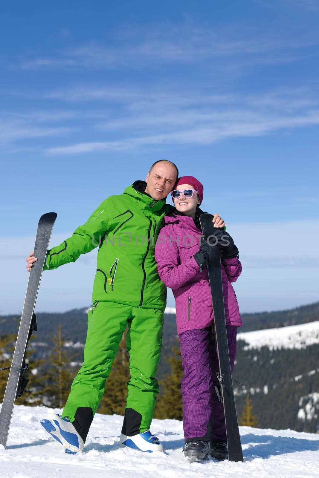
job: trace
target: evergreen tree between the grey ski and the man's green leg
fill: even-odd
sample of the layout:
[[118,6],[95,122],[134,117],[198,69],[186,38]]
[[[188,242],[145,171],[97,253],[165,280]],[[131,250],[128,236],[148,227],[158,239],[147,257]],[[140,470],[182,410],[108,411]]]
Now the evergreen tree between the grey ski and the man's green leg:
[[48,368],[44,376],[46,387],[43,390],[44,403],[52,408],[62,408],[70,393],[70,387],[76,370],[71,366],[73,357],[63,347],[61,324],[58,325],[57,334],[52,338],[54,347],[48,355]]

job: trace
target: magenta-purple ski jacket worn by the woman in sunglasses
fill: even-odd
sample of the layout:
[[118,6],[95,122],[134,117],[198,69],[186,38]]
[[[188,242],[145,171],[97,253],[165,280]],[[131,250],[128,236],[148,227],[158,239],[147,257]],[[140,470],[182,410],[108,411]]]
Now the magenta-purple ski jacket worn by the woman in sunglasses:
[[[160,230],[155,245],[158,274],[175,297],[178,335],[187,330],[212,326],[214,322],[207,268],[199,272],[193,257],[199,250],[201,236],[192,217],[165,216],[165,226]],[[241,272],[242,264],[238,257],[222,258],[226,325],[242,326],[236,294],[231,285]]]

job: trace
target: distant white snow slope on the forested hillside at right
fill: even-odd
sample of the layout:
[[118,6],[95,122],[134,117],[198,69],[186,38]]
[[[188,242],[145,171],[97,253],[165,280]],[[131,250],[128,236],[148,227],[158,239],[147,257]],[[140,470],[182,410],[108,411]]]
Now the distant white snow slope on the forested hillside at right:
[[253,330],[237,334],[237,340],[244,340],[249,348],[306,348],[319,343],[319,321],[273,329]]

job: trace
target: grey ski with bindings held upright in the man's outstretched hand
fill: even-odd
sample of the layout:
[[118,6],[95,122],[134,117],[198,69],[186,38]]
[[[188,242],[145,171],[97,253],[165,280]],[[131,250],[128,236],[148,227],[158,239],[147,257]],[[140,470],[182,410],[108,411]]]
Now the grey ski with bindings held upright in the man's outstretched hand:
[[41,216],[38,223],[33,249],[33,255],[37,258],[37,261],[33,263],[33,267],[30,270],[18,337],[0,411],[0,445],[4,447],[7,445],[14,402],[16,398],[22,396],[29,381],[24,377],[24,373],[28,368],[28,364],[25,363],[25,352],[32,332],[36,331],[36,317],[33,311],[56,216],[55,212],[49,212]]

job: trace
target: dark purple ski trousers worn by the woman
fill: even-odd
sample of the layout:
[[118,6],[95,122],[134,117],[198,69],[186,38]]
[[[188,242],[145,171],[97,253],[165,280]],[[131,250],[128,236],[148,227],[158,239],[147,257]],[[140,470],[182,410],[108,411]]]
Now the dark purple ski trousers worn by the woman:
[[[236,356],[237,326],[227,326],[231,373]],[[181,381],[185,442],[226,441],[225,415],[215,385],[219,385],[217,345],[211,327],[187,330],[178,336],[184,375]]]

